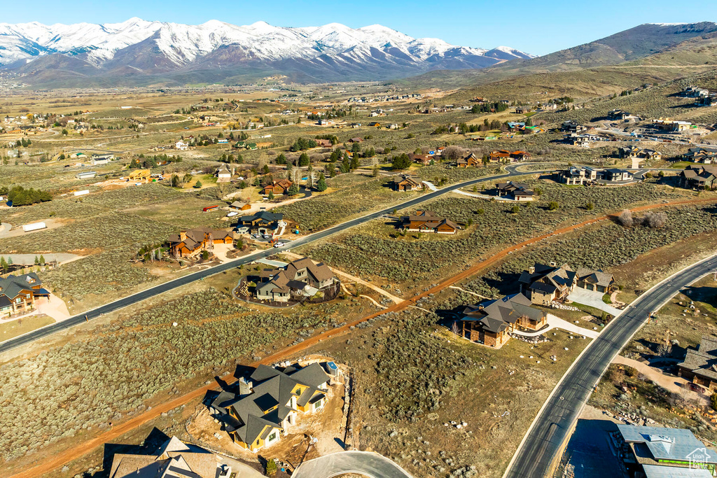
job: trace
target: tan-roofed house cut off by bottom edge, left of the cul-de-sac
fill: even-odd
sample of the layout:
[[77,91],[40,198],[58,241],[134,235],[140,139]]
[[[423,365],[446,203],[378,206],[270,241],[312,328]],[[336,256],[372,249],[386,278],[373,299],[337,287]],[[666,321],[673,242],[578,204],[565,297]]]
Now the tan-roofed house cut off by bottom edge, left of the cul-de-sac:
[[224,467],[211,451],[172,436],[153,453],[115,454],[109,478],[217,478]]

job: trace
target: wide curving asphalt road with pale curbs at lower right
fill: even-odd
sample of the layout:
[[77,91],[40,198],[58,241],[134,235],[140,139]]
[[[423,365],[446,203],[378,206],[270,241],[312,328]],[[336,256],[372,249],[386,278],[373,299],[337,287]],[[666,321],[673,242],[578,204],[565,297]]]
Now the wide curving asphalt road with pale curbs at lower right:
[[717,270],[717,257],[698,262],[638,297],[572,365],[563,381],[538,414],[528,436],[516,451],[504,478],[544,478],[559,458],[578,414],[600,376],[617,353],[627,345],[650,312],[674,297],[680,289]]

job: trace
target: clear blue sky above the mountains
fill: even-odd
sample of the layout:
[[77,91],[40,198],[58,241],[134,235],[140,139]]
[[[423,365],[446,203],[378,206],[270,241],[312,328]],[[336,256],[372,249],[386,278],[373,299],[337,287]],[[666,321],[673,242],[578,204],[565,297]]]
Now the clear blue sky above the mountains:
[[652,0],[270,0],[197,2],[187,0],[41,1],[37,8],[4,0],[0,21],[45,24],[115,23],[132,16],[146,20],[232,24],[263,20],[280,27],[338,22],[349,27],[382,24],[412,37],[436,37],[466,47],[505,45],[546,54],[591,42],[642,23],[717,21],[717,1]]

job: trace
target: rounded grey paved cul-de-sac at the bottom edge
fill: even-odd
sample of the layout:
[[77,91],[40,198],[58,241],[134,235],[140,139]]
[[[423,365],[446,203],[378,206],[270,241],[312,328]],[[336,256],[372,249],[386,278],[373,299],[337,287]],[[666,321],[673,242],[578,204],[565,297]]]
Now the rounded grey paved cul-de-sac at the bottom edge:
[[331,478],[357,473],[368,478],[412,478],[402,467],[372,451],[339,451],[304,462],[293,478]]

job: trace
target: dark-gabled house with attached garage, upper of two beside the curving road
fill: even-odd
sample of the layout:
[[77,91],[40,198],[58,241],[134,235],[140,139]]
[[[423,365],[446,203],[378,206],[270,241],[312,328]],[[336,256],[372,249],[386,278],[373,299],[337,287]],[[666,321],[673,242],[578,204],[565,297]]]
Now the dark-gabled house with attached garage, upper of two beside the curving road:
[[614,284],[612,274],[597,269],[580,267],[576,271],[568,264],[557,266],[535,264],[523,271],[518,278],[521,293],[533,304],[550,305],[555,300],[564,300],[575,287],[606,293]]

